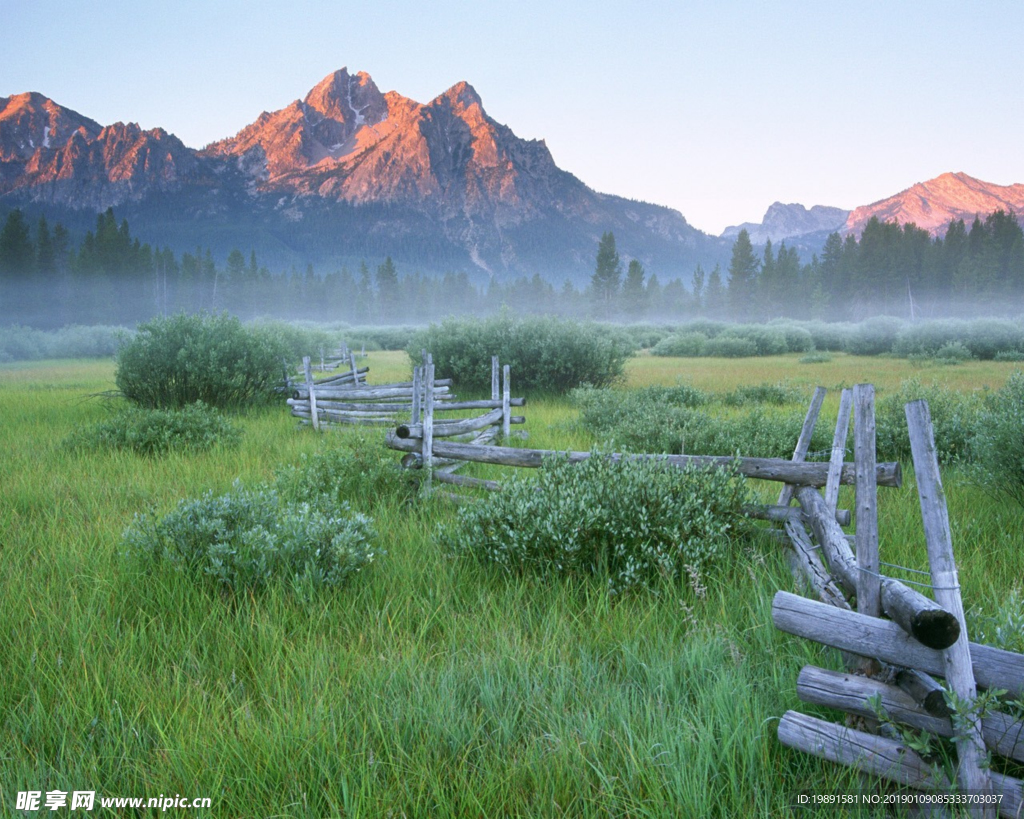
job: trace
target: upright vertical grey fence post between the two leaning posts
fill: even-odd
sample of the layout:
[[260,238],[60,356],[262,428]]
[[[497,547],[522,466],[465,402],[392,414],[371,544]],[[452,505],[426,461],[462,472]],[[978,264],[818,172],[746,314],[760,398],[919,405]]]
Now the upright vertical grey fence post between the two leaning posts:
[[857,486],[857,611],[882,616],[879,565],[879,487],[874,478],[874,385],[853,388],[853,458]]

